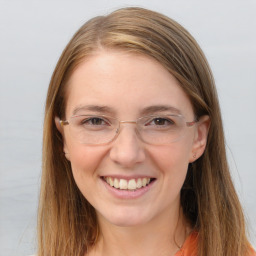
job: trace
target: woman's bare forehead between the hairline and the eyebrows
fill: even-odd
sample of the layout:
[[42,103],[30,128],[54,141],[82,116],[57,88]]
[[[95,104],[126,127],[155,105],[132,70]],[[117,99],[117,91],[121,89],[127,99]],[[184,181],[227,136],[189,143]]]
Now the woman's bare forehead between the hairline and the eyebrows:
[[102,50],[86,58],[67,85],[66,115],[83,106],[105,106],[115,115],[133,116],[152,106],[171,106],[192,115],[179,82],[151,57]]

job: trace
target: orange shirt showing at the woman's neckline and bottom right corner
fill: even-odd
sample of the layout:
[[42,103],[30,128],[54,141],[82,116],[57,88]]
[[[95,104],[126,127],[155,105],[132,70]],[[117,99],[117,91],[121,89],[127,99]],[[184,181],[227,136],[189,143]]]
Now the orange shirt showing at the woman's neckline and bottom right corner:
[[[197,255],[197,241],[198,241],[198,232],[193,231],[182,248],[174,256],[196,256]],[[252,249],[251,256],[256,256],[256,252]]]

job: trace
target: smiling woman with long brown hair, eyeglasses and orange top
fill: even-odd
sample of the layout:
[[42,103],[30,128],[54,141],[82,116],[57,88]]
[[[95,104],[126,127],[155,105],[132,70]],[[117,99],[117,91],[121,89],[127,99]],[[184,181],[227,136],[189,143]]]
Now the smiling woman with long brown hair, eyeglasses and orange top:
[[38,255],[254,255],[210,68],[175,21],[83,25],[48,90]]

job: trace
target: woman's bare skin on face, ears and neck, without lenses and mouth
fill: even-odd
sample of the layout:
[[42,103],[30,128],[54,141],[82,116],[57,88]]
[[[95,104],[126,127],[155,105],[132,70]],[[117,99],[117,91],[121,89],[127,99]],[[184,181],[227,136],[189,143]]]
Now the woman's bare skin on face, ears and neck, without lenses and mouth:
[[[164,67],[150,57],[122,51],[99,50],[72,74],[67,119],[76,108],[87,105],[110,108],[110,113],[87,114],[119,120],[136,120],[147,107],[168,105],[186,121],[194,120],[187,95]],[[191,230],[180,209],[180,190],[188,164],[203,154],[208,117],[187,128],[180,140],[157,146],[142,142],[134,124],[122,124],[114,141],[97,146],[75,141],[68,126],[60,127],[57,118],[56,125],[77,186],[96,209],[100,224],[99,243],[89,255],[173,255]],[[109,192],[102,176],[153,177],[155,182],[138,198],[118,198]]]

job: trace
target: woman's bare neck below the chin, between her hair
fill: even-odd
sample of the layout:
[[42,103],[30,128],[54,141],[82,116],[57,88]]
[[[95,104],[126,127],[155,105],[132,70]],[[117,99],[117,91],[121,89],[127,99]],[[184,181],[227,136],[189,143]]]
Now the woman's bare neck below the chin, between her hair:
[[159,216],[150,223],[135,227],[115,226],[99,218],[101,235],[89,256],[174,255],[190,229],[180,209],[167,216]]

